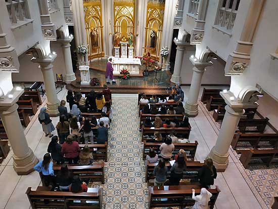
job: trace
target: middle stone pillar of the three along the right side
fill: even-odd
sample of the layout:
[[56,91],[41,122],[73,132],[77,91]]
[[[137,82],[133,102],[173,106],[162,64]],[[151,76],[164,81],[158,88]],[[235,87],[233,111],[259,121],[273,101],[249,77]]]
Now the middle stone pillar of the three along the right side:
[[[189,98],[184,106],[186,115],[195,117],[198,115],[198,96],[201,88],[202,77],[205,72],[205,67],[211,66],[212,62],[205,59],[198,60],[197,58],[190,58],[190,61],[194,65],[193,76],[190,86]],[[205,62],[203,62],[205,61]]]

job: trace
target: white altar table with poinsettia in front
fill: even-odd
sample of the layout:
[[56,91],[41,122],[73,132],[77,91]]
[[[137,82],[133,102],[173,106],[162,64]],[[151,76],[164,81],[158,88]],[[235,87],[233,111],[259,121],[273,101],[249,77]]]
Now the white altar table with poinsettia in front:
[[138,75],[140,65],[141,65],[141,60],[139,58],[113,58],[112,59],[114,75],[119,75],[122,69],[129,70],[130,75]]

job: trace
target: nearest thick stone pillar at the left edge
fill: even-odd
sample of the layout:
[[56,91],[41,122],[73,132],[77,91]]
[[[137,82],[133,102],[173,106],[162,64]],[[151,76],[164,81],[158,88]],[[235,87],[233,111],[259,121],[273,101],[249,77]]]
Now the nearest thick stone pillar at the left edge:
[[38,159],[28,147],[17,108],[16,103],[12,106],[2,106],[0,107],[0,116],[14,152],[14,169],[18,175],[27,175],[33,171]]

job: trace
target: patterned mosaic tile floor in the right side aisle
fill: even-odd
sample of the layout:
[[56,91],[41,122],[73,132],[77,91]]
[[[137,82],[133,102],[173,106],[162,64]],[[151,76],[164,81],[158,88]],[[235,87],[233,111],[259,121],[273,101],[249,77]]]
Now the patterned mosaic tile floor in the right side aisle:
[[[212,127],[217,130],[218,133],[220,130],[220,122],[214,121],[212,117],[213,112],[208,111],[201,101],[199,101],[199,107],[205,113]],[[235,162],[239,162],[235,164],[262,208],[270,208],[273,204],[273,196],[278,195],[278,169],[266,169],[263,166],[252,166],[252,168],[245,169],[239,161],[240,155],[238,155],[231,147],[229,149],[229,154]]]

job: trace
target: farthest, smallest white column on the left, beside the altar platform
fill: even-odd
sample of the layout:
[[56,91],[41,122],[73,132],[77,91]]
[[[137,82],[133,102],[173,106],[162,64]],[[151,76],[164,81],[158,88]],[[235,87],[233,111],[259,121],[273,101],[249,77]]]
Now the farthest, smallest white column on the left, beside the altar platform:
[[[71,41],[71,40],[70,40]],[[76,80],[75,74],[72,69],[71,53],[70,53],[70,43],[69,41],[62,42],[61,45],[64,54],[64,62],[66,67],[66,83],[71,83],[71,81]]]

